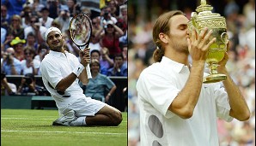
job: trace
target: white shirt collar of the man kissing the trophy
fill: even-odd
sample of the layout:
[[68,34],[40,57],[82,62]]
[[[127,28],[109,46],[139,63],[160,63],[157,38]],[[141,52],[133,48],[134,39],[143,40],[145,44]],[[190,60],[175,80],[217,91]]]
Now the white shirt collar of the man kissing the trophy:
[[185,68],[185,67],[188,68],[184,64],[179,63],[177,61],[173,61],[173,60],[171,60],[170,58],[168,58],[166,56],[162,56],[161,64],[171,66],[172,69],[177,73],[180,73],[182,71],[182,69]]

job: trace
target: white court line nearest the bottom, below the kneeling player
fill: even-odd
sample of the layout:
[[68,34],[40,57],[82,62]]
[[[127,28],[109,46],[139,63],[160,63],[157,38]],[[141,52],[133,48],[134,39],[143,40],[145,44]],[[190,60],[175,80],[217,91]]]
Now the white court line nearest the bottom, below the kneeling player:
[[91,131],[8,131],[6,132],[30,132],[30,133],[76,133],[76,134],[101,134],[101,135],[126,135],[127,133],[107,133],[107,132],[91,132]]

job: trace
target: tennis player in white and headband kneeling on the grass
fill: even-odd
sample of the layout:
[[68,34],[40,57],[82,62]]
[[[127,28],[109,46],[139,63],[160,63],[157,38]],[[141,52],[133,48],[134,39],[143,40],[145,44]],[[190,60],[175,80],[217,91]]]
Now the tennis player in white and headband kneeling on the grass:
[[46,89],[51,93],[61,115],[53,126],[119,126],[121,112],[82,93],[82,84],[88,83],[87,67],[89,49],[80,51],[80,62],[76,55],[64,50],[64,38],[57,27],[45,33],[50,53],[41,62],[40,72]]

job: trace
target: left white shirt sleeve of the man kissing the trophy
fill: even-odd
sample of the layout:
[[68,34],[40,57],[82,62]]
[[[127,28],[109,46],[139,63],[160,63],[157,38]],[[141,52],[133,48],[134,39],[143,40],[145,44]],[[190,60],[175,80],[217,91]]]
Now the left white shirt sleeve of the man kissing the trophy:
[[141,74],[137,81],[137,92],[143,101],[149,102],[166,118],[171,118],[176,114],[169,111],[168,108],[180,90],[165,78],[168,77],[154,73]]

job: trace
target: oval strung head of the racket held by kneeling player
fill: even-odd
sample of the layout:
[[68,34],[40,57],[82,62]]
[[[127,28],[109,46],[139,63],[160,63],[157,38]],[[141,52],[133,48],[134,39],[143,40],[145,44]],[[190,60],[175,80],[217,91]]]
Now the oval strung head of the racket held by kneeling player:
[[91,20],[85,14],[78,14],[70,20],[70,38],[76,46],[83,50],[88,47],[92,34]]

